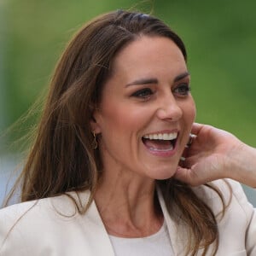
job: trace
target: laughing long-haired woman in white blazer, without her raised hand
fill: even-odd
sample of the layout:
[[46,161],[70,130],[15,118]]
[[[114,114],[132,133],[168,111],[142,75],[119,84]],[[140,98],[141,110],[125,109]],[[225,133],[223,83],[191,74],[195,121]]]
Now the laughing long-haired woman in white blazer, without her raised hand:
[[186,59],[149,15],[119,10],[84,26],[56,67],[22,203],[0,212],[0,255],[256,252],[240,185],[174,178],[195,119]]

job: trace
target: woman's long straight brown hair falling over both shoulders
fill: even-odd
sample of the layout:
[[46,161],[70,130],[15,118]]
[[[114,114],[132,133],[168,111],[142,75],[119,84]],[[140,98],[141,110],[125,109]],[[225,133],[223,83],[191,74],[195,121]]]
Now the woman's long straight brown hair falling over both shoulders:
[[[175,32],[153,16],[137,12],[118,10],[99,16],[68,44],[55,68],[37,136],[19,178],[21,201],[84,189],[90,189],[92,200],[102,162],[98,149],[92,147],[90,119],[101,101],[114,56],[142,35],[170,38],[187,61],[183,41]],[[188,185],[172,179],[158,183],[170,214],[177,208],[188,226],[187,252],[195,255],[203,247],[206,253],[213,242],[217,249],[212,210]]]

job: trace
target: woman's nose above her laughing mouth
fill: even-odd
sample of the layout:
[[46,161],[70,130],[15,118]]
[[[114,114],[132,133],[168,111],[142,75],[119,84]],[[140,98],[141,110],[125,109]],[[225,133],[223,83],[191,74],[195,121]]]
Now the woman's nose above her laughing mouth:
[[180,108],[171,92],[170,94],[161,97],[159,100],[160,106],[157,109],[157,116],[159,119],[177,121],[182,117],[182,108]]

